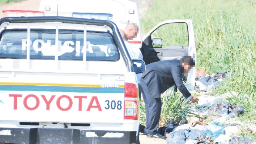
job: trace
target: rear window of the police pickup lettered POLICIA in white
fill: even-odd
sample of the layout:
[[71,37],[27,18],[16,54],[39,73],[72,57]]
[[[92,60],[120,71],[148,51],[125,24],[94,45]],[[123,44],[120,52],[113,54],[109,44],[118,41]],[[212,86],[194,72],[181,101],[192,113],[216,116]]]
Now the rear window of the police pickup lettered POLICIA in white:
[[[118,49],[109,32],[79,30],[30,30],[30,46],[27,30],[6,30],[1,34],[0,58],[115,61],[119,59]],[[84,42],[86,39],[86,43]],[[58,42],[56,42],[58,40]],[[27,51],[29,49],[29,51]]]

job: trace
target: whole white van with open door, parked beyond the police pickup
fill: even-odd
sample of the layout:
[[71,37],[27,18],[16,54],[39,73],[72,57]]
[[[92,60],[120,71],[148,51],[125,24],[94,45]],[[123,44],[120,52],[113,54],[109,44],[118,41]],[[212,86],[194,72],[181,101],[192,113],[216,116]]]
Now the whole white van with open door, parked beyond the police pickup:
[[[108,18],[121,29],[127,23],[136,23],[139,28],[137,37],[128,42],[141,49],[146,64],[187,55],[196,60],[192,20],[161,22],[142,37],[138,6],[129,0],[41,0],[39,11],[44,12],[44,15]],[[195,89],[195,68],[188,73],[186,86],[189,90]]]

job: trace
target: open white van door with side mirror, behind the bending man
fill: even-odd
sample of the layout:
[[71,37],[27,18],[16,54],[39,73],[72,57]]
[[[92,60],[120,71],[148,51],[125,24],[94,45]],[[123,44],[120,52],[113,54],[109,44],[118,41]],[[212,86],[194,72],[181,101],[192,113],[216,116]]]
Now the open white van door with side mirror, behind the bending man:
[[[144,37],[141,53],[146,64],[191,56],[196,60],[192,20],[168,20],[157,24]],[[195,67],[187,76],[188,90],[195,89]]]

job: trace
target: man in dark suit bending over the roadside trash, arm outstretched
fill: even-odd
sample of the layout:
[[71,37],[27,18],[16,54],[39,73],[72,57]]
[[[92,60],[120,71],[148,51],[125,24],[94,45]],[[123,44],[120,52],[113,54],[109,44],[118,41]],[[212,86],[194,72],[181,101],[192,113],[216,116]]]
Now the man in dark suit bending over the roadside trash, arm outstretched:
[[147,137],[165,139],[165,136],[157,133],[162,105],[160,96],[171,86],[176,85],[191,102],[198,101],[198,98],[192,96],[183,84],[184,74],[193,66],[195,61],[190,56],[185,56],[181,60],[162,60],[146,65],[140,86],[146,108],[144,133]]

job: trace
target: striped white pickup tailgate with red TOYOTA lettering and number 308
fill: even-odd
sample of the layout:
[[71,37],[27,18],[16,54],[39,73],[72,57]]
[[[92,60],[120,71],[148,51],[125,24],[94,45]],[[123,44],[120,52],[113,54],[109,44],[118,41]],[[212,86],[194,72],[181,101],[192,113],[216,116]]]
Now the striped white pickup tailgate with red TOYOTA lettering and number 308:
[[122,85],[0,82],[0,120],[123,123]]

